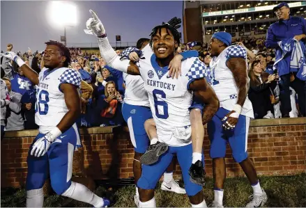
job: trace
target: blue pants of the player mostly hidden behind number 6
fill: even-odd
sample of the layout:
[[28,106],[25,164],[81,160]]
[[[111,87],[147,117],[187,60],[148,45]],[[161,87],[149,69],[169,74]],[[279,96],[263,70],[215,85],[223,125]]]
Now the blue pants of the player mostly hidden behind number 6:
[[124,103],[122,114],[130,131],[130,140],[135,152],[144,153],[148,149],[150,140],[144,129],[144,122],[153,118],[151,109],[144,106],[134,106]]

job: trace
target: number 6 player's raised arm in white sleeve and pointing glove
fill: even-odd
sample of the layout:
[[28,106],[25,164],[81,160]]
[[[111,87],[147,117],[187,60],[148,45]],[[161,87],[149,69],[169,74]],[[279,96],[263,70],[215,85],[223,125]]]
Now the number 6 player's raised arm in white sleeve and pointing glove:
[[128,60],[120,60],[120,57],[116,54],[112,46],[109,44],[107,34],[104,26],[99,17],[93,10],[89,10],[93,18],[89,18],[86,22],[87,30],[85,33],[93,34],[98,37],[98,45],[101,56],[106,61],[107,65],[113,67],[116,70],[125,72],[132,75],[140,75],[139,67]]

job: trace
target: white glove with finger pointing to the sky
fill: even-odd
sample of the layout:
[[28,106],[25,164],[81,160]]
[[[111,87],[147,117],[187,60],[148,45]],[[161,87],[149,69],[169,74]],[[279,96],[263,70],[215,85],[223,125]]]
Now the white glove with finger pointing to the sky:
[[93,18],[89,18],[87,20],[87,22],[86,22],[86,28],[87,29],[84,29],[84,32],[86,34],[95,35],[97,37],[100,37],[102,35],[106,35],[104,26],[103,26],[102,22],[100,21],[98,15],[95,14],[95,12],[93,10],[89,10],[89,12],[93,16]]

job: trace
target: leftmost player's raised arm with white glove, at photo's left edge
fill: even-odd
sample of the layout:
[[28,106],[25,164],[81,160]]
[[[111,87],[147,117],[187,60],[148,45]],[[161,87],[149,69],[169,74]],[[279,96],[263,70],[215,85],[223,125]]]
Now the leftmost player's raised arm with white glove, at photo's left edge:
[[37,72],[32,70],[31,67],[29,67],[28,65],[26,65],[26,63],[22,61],[22,58],[17,56],[17,54],[15,54],[12,51],[9,51],[6,52],[5,54],[1,54],[1,56],[9,58],[12,61],[15,61],[15,63],[17,63],[17,65],[20,67],[20,70],[22,70],[22,72],[24,73],[24,76],[27,77],[35,85],[38,85],[39,80]]

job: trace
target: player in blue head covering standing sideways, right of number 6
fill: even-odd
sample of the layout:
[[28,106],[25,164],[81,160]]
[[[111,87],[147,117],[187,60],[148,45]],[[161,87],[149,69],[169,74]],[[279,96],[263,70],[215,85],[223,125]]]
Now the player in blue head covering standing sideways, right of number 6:
[[267,195],[261,189],[254,165],[247,156],[247,133],[250,118],[254,118],[252,103],[247,98],[247,51],[240,45],[231,45],[231,34],[226,32],[214,33],[208,48],[213,57],[210,83],[220,101],[220,109],[207,126],[215,183],[213,207],[223,207],[227,142],[234,160],[243,168],[254,191],[247,207],[263,206]]

